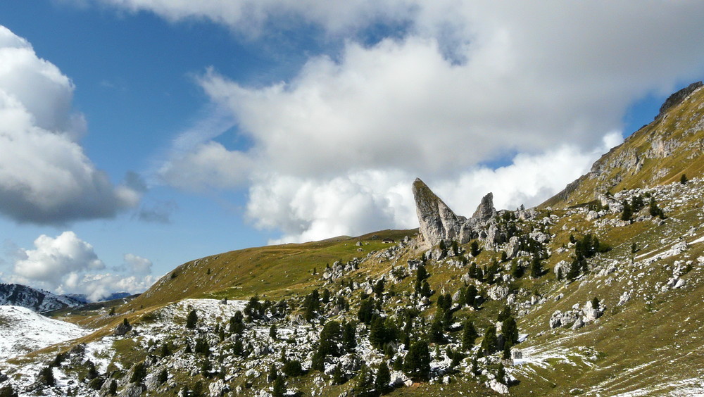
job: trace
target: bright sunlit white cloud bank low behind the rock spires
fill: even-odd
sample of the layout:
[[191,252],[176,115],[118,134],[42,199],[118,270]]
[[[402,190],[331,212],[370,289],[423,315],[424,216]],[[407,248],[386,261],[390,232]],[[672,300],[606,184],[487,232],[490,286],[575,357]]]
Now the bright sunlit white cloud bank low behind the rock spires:
[[[458,215],[472,215],[489,191],[498,209],[530,207],[589,171],[601,153],[621,141],[620,132],[612,132],[591,151],[564,145],[534,156],[521,153],[503,167],[474,167],[425,182]],[[364,170],[332,179],[268,175],[251,188],[247,213],[258,227],[284,232],[272,244],[412,229],[418,225],[413,179],[413,173],[401,170]]]

